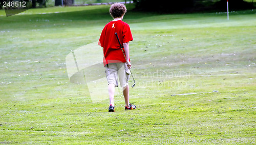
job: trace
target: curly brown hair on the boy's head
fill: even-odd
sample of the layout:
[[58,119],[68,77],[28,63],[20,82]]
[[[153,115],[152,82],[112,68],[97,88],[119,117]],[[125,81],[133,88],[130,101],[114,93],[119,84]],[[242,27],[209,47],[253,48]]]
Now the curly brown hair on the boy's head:
[[110,15],[113,18],[120,18],[126,13],[126,7],[123,4],[115,3],[110,7]]

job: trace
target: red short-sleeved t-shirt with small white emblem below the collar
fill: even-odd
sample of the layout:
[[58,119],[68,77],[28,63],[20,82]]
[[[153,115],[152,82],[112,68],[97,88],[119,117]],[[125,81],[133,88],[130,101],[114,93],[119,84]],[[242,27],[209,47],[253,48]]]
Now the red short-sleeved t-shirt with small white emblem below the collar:
[[[117,33],[123,49],[123,43],[133,41],[130,26],[122,20],[111,21],[103,28],[98,44],[103,47],[103,64],[104,66],[109,63],[125,63],[126,60],[120,48],[120,44],[116,38]],[[123,49],[124,51],[124,49]],[[125,53],[125,52],[124,52]],[[126,56],[126,55],[125,55]],[[129,58],[130,61],[130,56]]]

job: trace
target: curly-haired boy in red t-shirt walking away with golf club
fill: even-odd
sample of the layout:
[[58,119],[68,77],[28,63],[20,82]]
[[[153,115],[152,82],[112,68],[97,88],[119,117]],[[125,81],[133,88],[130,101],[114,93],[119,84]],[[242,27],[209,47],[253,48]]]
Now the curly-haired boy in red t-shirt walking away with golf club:
[[[126,7],[123,4],[115,3],[110,7],[110,15],[113,20],[103,28],[98,44],[103,47],[103,64],[106,69],[106,79],[108,80],[108,89],[110,97],[109,112],[115,111],[114,93],[115,86],[118,86],[117,76],[123,88],[123,96],[125,101],[125,110],[136,109],[135,105],[129,103],[129,75],[130,75],[130,56],[129,56],[129,41],[133,41],[133,36],[130,26],[123,22],[123,15],[126,13]],[[123,45],[120,48],[118,40],[115,36],[117,33],[120,43]],[[125,59],[122,50],[124,50]]]

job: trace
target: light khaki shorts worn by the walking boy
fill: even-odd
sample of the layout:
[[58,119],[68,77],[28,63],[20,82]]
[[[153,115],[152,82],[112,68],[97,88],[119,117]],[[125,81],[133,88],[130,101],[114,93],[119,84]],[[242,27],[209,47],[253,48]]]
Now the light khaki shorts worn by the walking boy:
[[119,77],[119,82],[121,87],[128,85],[128,80],[130,78],[130,70],[127,68],[126,63],[110,63],[106,65],[106,80],[108,84],[115,84],[118,86],[117,76]]

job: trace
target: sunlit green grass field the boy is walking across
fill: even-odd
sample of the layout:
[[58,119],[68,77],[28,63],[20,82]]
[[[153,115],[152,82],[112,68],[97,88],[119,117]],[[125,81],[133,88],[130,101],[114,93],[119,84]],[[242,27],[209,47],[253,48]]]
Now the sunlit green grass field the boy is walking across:
[[70,50],[98,41],[108,9],[0,11],[0,143],[256,142],[256,10],[232,12],[229,21],[219,12],[128,11],[137,82],[130,102],[138,108],[124,111],[116,95],[109,113],[109,100],[92,103],[85,85],[69,82],[65,64]]

